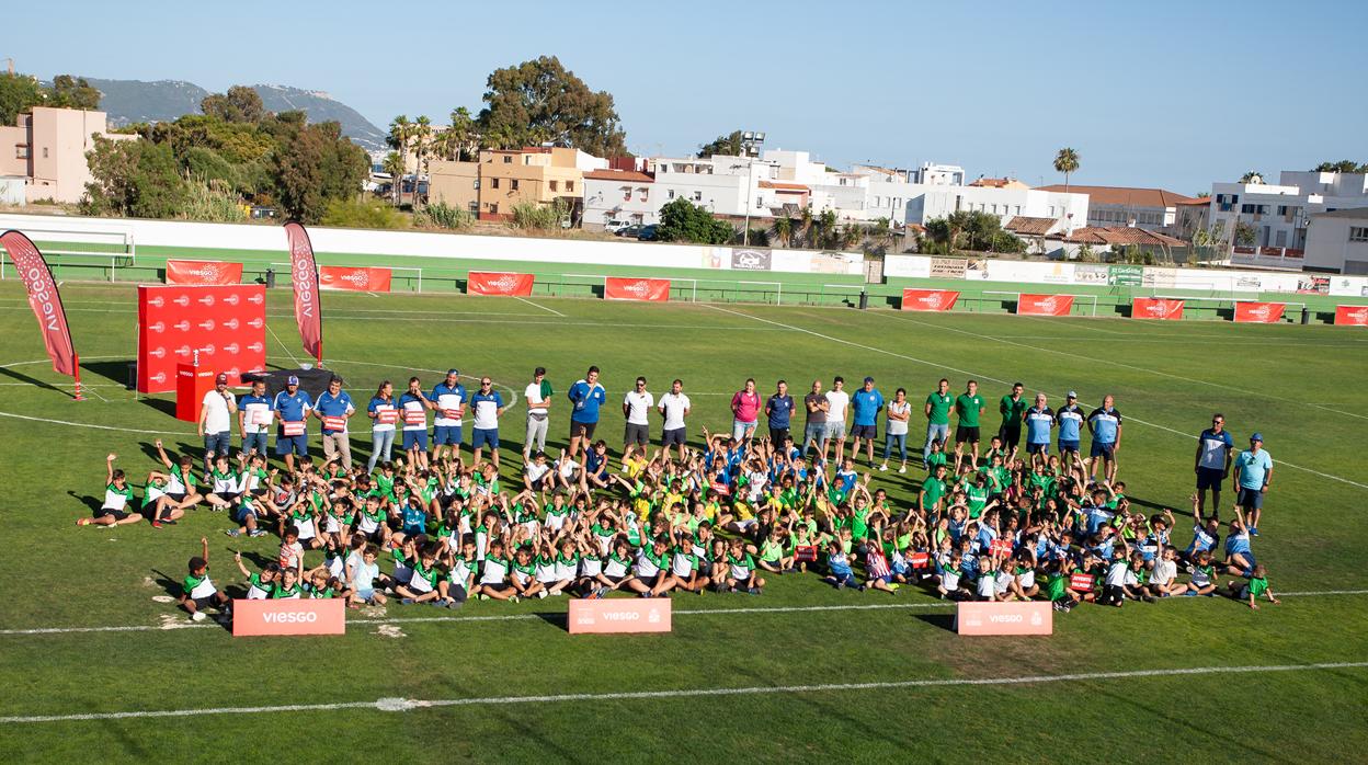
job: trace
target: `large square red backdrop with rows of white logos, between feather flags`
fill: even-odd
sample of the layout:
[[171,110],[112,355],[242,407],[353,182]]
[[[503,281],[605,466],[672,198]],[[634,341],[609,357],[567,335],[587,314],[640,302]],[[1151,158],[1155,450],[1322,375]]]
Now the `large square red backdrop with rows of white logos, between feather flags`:
[[176,387],[176,364],[228,375],[265,368],[265,285],[138,286],[138,390]]

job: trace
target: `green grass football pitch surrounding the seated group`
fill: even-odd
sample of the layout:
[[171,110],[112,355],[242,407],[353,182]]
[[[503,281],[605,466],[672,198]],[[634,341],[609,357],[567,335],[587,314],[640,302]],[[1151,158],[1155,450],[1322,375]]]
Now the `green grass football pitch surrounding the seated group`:
[[[1111,393],[1126,417],[1120,478],[1135,502],[1178,509],[1179,546],[1190,538],[1192,437],[1220,411],[1237,443],[1260,430],[1276,461],[1254,550],[1287,597],[1259,612],[1223,598],[1079,608],[1057,614],[1049,638],[962,639],[948,630],[951,609],[921,590],[860,594],[784,576],[761,597],[677,595],[670,635],[572,638],[557,619],[565,602],[546,599],[391,605],[353,613],[341,638],[234,640],[212,625],[164,628],[186,621],[159,598],[201,534],[220,587],[241,580],[230,546],[271,556],[274,536],[230,541],[227,520],[202,509],[163,531],[73,524],[103,489],[107,452],[140,475],[153,467],[155,438],[174,452],[197,439],[167,413],[168,397],[123,389],[133,287],[68,283],[63,297],[86,402],[51,371],[22,290],[0,285],[0,761],[1363,761],[1368,751],[1365,333],[328,293],[327,365],[361,401],[382,378],[417,374],[430,387],[450,365],[506,393],[540,364],[560,394],[598,364],[610,404],[637,374],[657,393],[683,378],[696,435],[725,426],[746,376],[766,393],[777,378],[802,390],[814,376],[869,374],[914,402],[943,375],[955,390],[975,376],[990,401],[1016,379],[1053,401],[1077,389],[1088,406]],[[293,367],[304,354],[287,290],[269,296],[268,316],[283,341],[269,339],[269,360]],[[622,422],[614,409],[599,431],[610,443]],[[505,420],[506,478],[521,411]],[[562,409],[551,441],[564,437]],[[874,479],[899,502],[919,480],[921,471]],[[178,714],[138,716],[161,712]]]

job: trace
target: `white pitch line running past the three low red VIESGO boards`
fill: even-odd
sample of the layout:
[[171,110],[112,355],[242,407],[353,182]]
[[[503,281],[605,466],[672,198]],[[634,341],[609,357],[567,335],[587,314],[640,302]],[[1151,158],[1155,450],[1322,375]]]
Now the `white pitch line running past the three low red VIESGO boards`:
[[[1279,598],[1312,598],[1331,595],[1368,595],[1368,590],[1323,590],[1306,593],[1276,593]],[[1168,602],[1187,602],[1197,598],[1171,598]],[[412,606],[423,608],[423,606]],[[434,608],[434,606],[427,606]],[[737,613],[822,613],[822,612],[850,612],[850,610],[908,610],[908,609],[947,609],[955,608],[953,602],[929,601],[914,604],[847,604],[830,606],[748,606],[748,608],[705,608],[705,609],[677,609],[674,616],[732,616]],[[561,616],[553,613],[551,616]],[[542,613],[503,613],[490,616],[393,616],[383,619],[347,619],[347,624],[434,624],[434,623],[491,623],[491,621],[544,621]],[[223,630],[220,624],[209,621],[176,621],[171,624],[115,624],[104,627],[30,627],[21,630],[0,630],[0,636],[25,635],[73,635],[89,632],[176,632],[182,630]]]

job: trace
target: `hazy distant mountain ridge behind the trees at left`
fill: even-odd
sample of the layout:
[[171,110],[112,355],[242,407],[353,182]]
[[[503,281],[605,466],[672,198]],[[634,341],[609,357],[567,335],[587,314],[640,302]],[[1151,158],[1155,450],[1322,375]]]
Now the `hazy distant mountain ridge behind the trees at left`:
[[[86,77],[100,90],[100,109],[109,115],[109,125],[119,127],[134,122],[163,122],[187,114],[200,114],[200,101],[209,90],[182,79],[101,79]],[[287,85],[253,85],[267,109],[283,112],[301,109],[309,122],[337,120],[342,134],[367,151],[386,148],[384,131],[360,112],[323,93]]]

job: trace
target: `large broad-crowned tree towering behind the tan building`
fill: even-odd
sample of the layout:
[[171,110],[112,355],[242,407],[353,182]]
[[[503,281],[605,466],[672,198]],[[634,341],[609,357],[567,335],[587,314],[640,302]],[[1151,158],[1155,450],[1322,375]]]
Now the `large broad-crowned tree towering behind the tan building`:
[[551,142],[595,156],[627,153],[613,96],[590,90],[555,56],[495,70],[486,88],[476,122],[487,146]]

